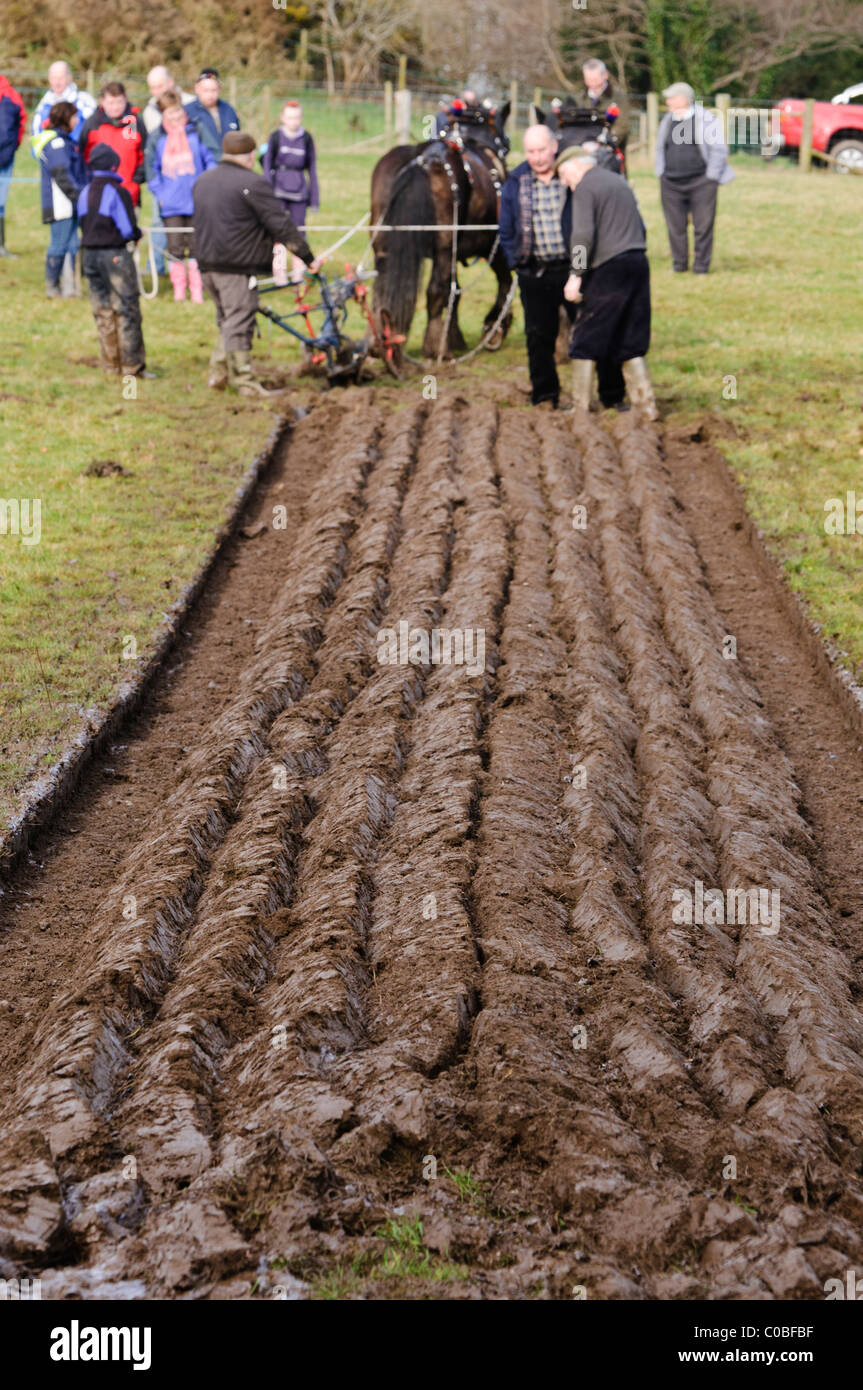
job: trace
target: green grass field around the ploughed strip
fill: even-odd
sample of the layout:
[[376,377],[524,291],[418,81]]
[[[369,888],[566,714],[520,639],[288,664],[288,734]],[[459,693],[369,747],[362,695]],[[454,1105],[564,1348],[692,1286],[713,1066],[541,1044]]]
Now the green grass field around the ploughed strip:
[[[315,236],[315,222],[352,224],[367,210],[384,145],[361,143],[379,129],[379,115],[359,103],[328,111],[320,97],[310,100],[306,121],[320,140],[324,206],[310,229],[320,250],[338,234]],[[782,161],[766,168],[741,157],[737,168],[720,193],[714,274],[699,279],[671,275],[656,181],[632,171],[653,267],[652,370],[671,424],[716,421],[756,520],[859,676],[863,537],[825,535],[824,503],[846,491],[863,498],[863,186],[823,172],[799,177]],[[17,175],[33,172],[24,150]],[[147,214],[149,197],[142,221]],[[157,379],[124,399],[97,370],[86,299],[43,297],[47,232],[35,183],[13,185],[7,239],[21,254],[0,261],[0,496],[42,499],[42,539],[0,535],[0,824],[83,713],[108,703],[129,674],[125,638],[135,635],[139,660],[146,656],[270,434],[272,409],[289,399],[268,409],[208,392],[211,309],[175,306],[164,289],[145,304]],[[359,236],[346,246],[336,267],[356,261],[364,243]],[[471,268],[464,282],[461,322],[475,342],[491,278]],[[418,318],[411,350],[421,328]],[[297,357],[270,328],[261,349],[285,363]],[[517,311],[503,352],[475,359],[470,371],[514,375],[523,367]],[[402,389],[417,391],[417,379]],[[128,475],[86,475],[106,459]]]

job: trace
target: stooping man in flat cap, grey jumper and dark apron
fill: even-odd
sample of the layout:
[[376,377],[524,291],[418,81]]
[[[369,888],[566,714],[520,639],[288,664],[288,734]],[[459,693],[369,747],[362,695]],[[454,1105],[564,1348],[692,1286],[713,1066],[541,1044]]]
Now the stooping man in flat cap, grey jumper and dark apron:
[[656,403],[645,354],[650,345],[650,268],[645,224],[625,179],[599,168],[580,146],[557,157],[563,183],[573,195],[571,274],[564,295],[581,311],[573,338],[573,403],[591,404],[593,363],[603,406],[630,402],[648,420]]

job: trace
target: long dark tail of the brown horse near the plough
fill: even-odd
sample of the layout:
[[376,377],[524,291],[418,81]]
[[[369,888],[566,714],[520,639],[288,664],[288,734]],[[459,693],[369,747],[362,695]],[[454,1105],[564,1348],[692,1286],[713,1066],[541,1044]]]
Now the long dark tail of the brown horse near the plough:
[[[438,221],[428,171],[411,160],[393,181],[384,222],[391,227],[432,227]],[[417,307],[422,261],[434,256],[434,232],[382,232],[378,239],[375,310],[395,332],[407,334]]]

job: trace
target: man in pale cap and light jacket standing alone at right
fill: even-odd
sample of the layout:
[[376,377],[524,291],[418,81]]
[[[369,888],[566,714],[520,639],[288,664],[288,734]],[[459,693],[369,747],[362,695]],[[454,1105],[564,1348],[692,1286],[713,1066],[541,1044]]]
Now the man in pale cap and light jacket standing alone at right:
[[656,174],[661,193],[671,267],[689,268],[689,218],[695,234],[696,275],[706,275],[713,256],[713,228],[720,183],[730,183],[721,118],[696,104],[688,82],[674,82],[663,92],[667,114],[656,135]]

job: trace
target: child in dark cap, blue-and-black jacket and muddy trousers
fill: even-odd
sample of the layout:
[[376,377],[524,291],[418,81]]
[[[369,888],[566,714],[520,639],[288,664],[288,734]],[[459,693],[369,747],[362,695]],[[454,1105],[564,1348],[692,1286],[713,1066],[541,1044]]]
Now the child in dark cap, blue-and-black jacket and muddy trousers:
[[110,145],[90,152],[92,182],[78,199],[83,274],[90,286],[101,361],[121,377],[147,377],[138,271],[128,243],[140,238],[120,156]]

